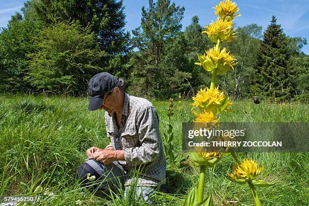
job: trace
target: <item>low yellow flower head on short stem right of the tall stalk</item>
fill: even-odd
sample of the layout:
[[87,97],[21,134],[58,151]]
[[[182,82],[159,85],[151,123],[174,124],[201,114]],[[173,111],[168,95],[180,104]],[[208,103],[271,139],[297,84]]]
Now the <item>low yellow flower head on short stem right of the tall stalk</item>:
[[256,176],[258,176],[261,171],[264,169],[264,166],[258,168],[258,163],[254,160],[243,160],[241,165],[236,164],[233,167],[233,173],[229,174],[232,179],[246,179],[253,180]]

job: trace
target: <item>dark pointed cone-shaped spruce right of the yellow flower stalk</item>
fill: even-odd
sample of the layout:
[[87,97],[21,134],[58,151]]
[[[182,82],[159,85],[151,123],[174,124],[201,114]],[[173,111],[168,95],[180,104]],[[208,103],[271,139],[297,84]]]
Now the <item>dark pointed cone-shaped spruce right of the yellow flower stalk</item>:
[[[287,50],[287,37],[275,16],[264,32],[258,56],[257,88],[258,95],[289,99],[293,95],[292,73],[288,70],[290,55]],[[260,94],[259,94],[260,93]]]

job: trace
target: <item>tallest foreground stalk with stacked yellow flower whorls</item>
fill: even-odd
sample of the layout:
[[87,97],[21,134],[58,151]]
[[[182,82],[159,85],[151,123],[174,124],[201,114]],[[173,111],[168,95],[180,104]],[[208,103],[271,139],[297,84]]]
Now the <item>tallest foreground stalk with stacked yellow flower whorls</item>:
[[[216,43],[213,48],[201,56],[198,56],[196,65],[202,66],[208,72],[212,73],[212,80],[210,88],[201,89],[195,97],[193,97],[192,112],[195,115],[194,122],[216,123],[218,119],[216,115],[223,110],[227,110],[231,106],[230,98],[224,94],[223,91],[219,91],[219,87],[216,87],[217,75],[225,74],[229,69],[234,70],[233,66],[236,65],[236,59],[233,55],[227,52],[226,48],[220,48],[220,42],[231,42],[235,37],[233,29],[233,19],[239,14],[235,14],[239,11],[235,3],[226,0],[220,2],[215,8],[215,14],[219,17],[216,22],[213,22],[205,27],[205,33],[209,36],[209,39]],[[207,122],[207,123],[206,123]],[[197,188],[194,187],[185,200],[184,205],[195,205],[198,203],[208,202],[207,205],[213,205],[212,198],[206,198],[203,200],[205,173],[207,167],[214,167],[215,164],[221,159],[222,153],[219,152],[207,152],[203,148],[195,148],[196,152],[189,153],[190,159],[193,164],[200,168],[199,180]],[[237,158],[234,154],[233,157]],[[235,159],[236,160],[236,159]],[[238,160],[238,158],[237,158]],[[238,161],[240,163],[240,161]]]

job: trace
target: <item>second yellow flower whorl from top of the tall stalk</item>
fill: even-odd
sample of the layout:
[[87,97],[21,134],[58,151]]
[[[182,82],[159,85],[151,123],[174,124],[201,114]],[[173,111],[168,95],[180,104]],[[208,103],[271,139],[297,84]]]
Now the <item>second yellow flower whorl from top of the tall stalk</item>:
[[231,42],[236,35],[233,29],[233,22],[227,19],[223,20],[218,18],[216,22],[212,21],[212,23],[205,26],[205,28],[206,31],[202,31],[202,33],[206,33],[209,39],[215,43],[218,42],[218,39]]

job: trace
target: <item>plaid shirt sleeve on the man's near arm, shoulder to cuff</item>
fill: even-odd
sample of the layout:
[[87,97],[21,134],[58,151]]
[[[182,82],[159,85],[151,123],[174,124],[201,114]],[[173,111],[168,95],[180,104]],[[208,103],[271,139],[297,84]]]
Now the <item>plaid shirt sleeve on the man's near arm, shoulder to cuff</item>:
[[149,163],[159,154],[161,137],[155,108],[147,107],[138,114],[137,129],[141,146],[124,149],[126,163],[130,166]]

